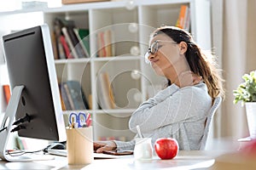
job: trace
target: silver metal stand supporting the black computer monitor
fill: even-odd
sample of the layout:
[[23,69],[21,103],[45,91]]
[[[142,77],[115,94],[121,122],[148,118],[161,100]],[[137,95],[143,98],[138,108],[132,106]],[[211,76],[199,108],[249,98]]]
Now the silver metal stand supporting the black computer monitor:
[[[3,123],[0,127],[0,129],[3,129],[3,127],[7,127],[5,130],[0,132],[0,158],[5,161],[39,161],[39,160],[50,160],[54,159],[53,156],[45,156],[45,155],[38,155],[38,154],[25,154],[22,156],[10,156],[6,152],[6,146],[9,141],[9,134],[10,131],[13,128],[13,122],[15,122],[15,115],[16,111],[18,109],[20,96],[22,93],[22,90],[24,89],[24,86],[16,86],[13,91],[12,95],[9,99],[9,104],[6,108],[6,113],[3,117]],[[27,155],[27,156],[26,156]]]

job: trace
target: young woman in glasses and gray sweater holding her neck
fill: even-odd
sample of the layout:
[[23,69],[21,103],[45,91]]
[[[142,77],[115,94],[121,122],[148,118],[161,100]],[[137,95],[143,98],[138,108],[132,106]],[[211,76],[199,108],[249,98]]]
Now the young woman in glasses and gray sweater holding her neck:
[[[174,26],[156,29],[145,58],[167,86],[143,102],[131,115],[129,127],[144,137],[177,139],[180,150],[199,150],[212,101],[224,95],[223,80],[212,55],[207,56],[187,31]],[[94,142],[96,152],[133,150],[135,140]]]

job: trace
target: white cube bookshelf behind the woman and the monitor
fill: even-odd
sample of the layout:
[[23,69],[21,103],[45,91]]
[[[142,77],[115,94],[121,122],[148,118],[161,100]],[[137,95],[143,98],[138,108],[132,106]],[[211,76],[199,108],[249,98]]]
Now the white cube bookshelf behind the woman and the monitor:
[[[20,29],[19,24],[14,25],[14,22],[22,22],[26,17],[16,17],[10,22],[10,16],[37,13],[40,20],[38,19],[35,25],[47,23],[51,31],[54,31],[55,18],[73,20],[77,28],[89,30],[90,57],[55,59],[58,80],[79,81],[82,85],[84,95],[90,103],[90,109],[87,111],[92,115],[94,139],[116,137],[130,140],[135,135],[128,128],[132,111],[165,83],[165,79],[157,77],[143,59],[148,49],[149,33],[163,24],[175,26],[182,5],[187,5],[190,9],[189,31],[195,41],[201,44],[201,48],[211,50],[210,3],[207,0],[134,0],[69,4],[42,10],[4,12],[0,13],[0,21],[4,23],[5,31]],[[31,24],[25,26],[29,27]],[[112,54],[99,57],[97,35],[108,30],[112,31]],[[97,83],[101,82],[99,75],[102,72],[108,72],[114,97],[112,109],[104,109],[100,105],[102,93]],[[5,106],[1,104],[0,107],[3,111]],[[72,111],[64,111],[64,115],[67,116],[70,112]]]

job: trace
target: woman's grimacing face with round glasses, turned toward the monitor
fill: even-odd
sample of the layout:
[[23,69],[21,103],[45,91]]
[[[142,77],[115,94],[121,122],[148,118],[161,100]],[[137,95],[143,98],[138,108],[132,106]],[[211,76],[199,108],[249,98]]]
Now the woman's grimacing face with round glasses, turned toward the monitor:
[[175,71],[175,65],[180,59],[179,44],[165,34],[153,37],[149,47],[155,42],[158,43],[158,50],[155,54],[149,53],[148,59],[158,75],[168,77],[168,74]]

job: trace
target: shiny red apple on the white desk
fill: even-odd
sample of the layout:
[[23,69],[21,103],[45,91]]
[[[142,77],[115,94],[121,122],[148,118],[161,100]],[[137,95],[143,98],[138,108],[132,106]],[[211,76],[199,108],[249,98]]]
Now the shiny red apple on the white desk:
[[177,140],[172,138],[157,139],[154,143],[154,150],[162,160],[172,159],[177,156]]

